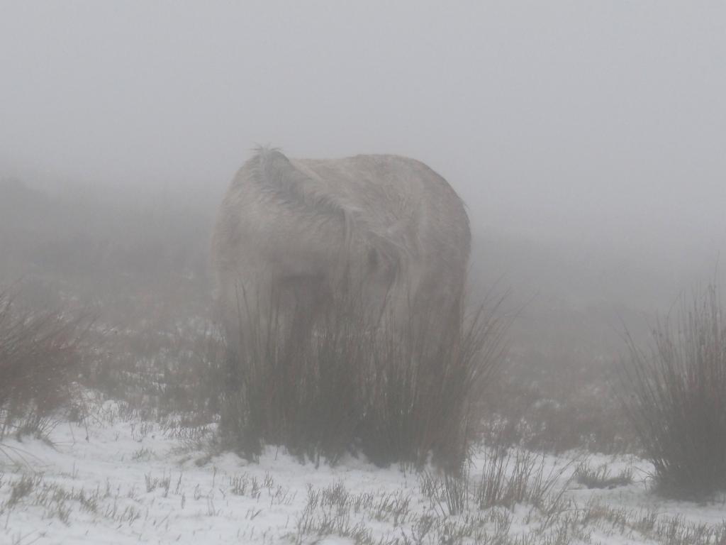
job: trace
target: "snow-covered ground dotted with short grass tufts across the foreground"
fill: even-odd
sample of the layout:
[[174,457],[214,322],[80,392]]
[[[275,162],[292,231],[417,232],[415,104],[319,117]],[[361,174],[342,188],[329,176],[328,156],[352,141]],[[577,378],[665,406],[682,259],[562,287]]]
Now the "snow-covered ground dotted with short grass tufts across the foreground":
[[[144,421],[110,401],[88,420],[0,445],[0,544],[726,543],[723,501],[659,499],[648,464],[628,457],[534,456],[556,481],[550,497],[481,509],[484,447],[457,504],[433,469],[315,467],[274,448],[258,463],[213,456],[209,429]],[[632,483],[588,489],[573,477],[583,463]]]

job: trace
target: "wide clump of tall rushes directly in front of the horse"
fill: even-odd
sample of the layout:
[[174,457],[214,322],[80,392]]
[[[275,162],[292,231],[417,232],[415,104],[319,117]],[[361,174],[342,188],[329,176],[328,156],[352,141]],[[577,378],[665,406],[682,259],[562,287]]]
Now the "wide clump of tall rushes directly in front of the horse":
[[245,355],[231,361],[222,437],[251,457],[272,444],[314,461],[362,453],[381,466],[433,460],[457,470],[468,455],[473,401],[502,360],[499,303],[446,331],[422,320],[426,313],[372,328],[350,297],[326,305],[314,326],[286,323],[279,309],[266,319],[252,314]]

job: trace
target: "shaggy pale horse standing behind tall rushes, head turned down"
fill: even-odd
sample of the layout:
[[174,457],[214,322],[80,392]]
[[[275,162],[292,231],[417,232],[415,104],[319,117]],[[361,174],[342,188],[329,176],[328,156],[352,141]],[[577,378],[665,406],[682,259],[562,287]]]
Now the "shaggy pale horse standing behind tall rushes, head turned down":
[[244,350],[270,312],[309,329],[353,288],[372,323],[425,315],[458,327],[469,221],[444,178],[414,159],[290,159],[259,149],[232,181],[213,237],[227,342]]

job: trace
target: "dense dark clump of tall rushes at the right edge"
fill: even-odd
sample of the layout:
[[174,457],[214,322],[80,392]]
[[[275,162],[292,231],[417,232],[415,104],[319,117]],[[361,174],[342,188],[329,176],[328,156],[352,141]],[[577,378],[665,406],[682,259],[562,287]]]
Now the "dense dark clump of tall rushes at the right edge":
[[706,498],[726,490],[726,322],[717,286],[658,323],[650,351],[629,347],[624,404],[658,491]]

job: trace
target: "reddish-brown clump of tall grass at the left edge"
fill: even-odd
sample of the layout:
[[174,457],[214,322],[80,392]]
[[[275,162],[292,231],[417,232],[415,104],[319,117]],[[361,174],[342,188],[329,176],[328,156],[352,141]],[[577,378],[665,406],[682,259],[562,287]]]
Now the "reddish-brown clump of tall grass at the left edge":
[[41,432],[68,400],[82,334],[81,320],[20,310],[9,292],[0,292],[0,440]]

